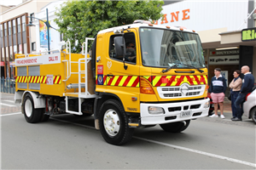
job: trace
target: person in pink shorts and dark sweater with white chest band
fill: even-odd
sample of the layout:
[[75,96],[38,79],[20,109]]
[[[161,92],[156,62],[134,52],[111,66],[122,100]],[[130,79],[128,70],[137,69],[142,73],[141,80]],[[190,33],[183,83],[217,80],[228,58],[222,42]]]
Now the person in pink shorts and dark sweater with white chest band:
[[214,70],[215,77],[212,77],[211,80],[211,86],[210,86],[210,93],[212,97],[212,102],[214,105],[214,114],[210,117],[218,117],[218,105],[220,110],[220,117],[222,119],[225,118],[223,115],[223,102],[225,97],[225,91],[227,88],[226,80],[225,78],[220,74],[221,69],[216,68]]

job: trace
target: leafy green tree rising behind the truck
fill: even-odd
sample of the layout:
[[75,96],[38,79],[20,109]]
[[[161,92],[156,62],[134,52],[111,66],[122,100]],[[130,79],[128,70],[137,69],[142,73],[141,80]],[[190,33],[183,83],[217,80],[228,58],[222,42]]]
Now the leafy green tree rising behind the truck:
[[74,44],[73,53],[81,51],[85,37],[98,31],[133,23],[134,20],[159,20],[162,0],[68,0],[57,9],[55,19],[59,31]]

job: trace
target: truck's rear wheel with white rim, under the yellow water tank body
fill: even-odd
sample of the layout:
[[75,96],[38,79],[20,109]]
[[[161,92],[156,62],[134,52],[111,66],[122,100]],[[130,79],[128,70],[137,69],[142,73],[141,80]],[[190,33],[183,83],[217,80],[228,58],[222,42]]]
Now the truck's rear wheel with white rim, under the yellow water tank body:
[[26,122],[30,123],[39,122],[42,116],[40,109],[34,108],[34,102],[31,94],[25,94],[21,111],[24,113]]

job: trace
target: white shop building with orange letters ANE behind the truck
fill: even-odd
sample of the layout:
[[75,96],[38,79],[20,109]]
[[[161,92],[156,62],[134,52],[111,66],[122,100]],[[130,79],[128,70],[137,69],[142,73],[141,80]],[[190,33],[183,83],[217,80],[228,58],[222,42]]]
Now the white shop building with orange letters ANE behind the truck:
[[[199,33],[209,80],[214,76],[214,68],[221,68],[229,84],[233,71],[241,70],[242,65],[248,65],[256,77],[254,0],[184,0],[164,6],[162,13],[165,14],[164,20],[155,21],[155,24],[184,26]],[[242,37],[248,39],[242,40]]]

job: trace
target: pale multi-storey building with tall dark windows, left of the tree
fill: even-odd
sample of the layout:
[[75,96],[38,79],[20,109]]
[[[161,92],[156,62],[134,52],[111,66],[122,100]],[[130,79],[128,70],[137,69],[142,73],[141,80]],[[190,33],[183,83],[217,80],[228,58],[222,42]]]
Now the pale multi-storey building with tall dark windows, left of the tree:
[[36,52],[35,28],[27,29],[28,16],[34,16],[48,1],[27,0],[12,8],[4,8],[0,17],[0,77],[15,77],[17,53]]

